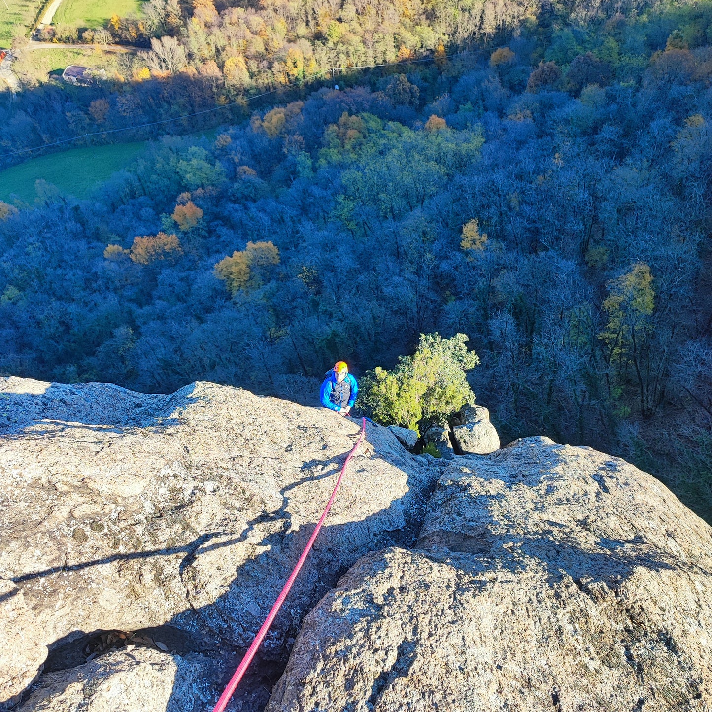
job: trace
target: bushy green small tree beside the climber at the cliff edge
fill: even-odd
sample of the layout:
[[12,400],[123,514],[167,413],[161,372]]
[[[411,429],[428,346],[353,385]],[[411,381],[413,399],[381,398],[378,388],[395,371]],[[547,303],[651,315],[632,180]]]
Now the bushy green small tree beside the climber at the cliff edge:
[[475,394],[465,372],[480,362],[468,351],[465,334],[444,339],[421,334],[414,355],[401,356],[387,371],[377,366],[362,379],[358,405],[384,425],[400,425],[419,434],[444,422]]

